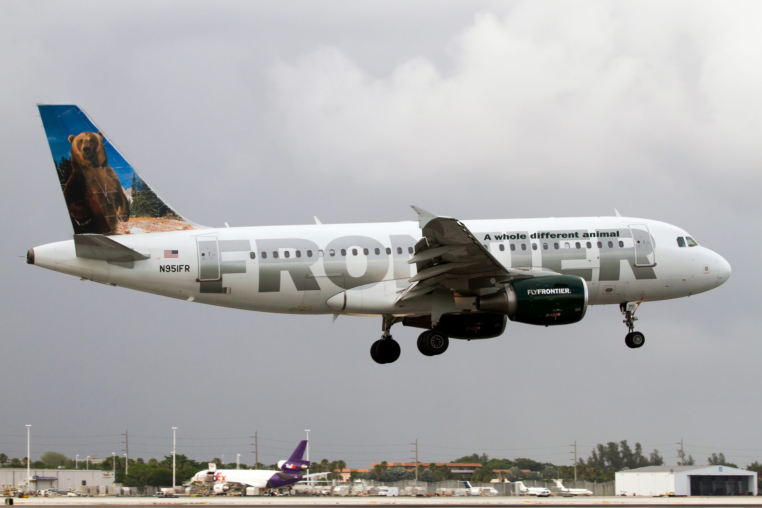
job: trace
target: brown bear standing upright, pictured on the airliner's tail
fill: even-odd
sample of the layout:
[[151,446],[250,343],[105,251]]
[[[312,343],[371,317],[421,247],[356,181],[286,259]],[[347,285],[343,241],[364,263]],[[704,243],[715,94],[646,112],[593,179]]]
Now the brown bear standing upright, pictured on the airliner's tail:
[[72,217],[74,232],[117,233],[119,221],[130,219],[130,201],[114,169],[108,165],[103,134],[83,132],[69,136],[72,173],[63,197]]

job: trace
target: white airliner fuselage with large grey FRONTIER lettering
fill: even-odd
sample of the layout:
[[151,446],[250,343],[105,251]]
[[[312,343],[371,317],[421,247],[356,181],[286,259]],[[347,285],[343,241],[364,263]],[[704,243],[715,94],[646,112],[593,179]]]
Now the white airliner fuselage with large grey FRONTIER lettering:
[[[702,246],[678,246],[677,237],[688,234],[655,220],[569,217],[463,223],[507,268],[581,276],[590,304],[689,296],[715,288],[730,275],[722,256]],[[612,236],[598,236],[600,231]],[[418,222],[231,227],[111,238],[150,259],[124,264],[78,258],[68,240],[35,247],[34,264],[109,285],[246,310],[431,313],[428,295],[397,301],[415,275],[415,264],[408,259],[421,239]],[[172,250],[178,251],[177,257],[166,255]],[[495,281],[495,288],[499,284]]]

